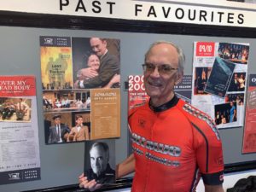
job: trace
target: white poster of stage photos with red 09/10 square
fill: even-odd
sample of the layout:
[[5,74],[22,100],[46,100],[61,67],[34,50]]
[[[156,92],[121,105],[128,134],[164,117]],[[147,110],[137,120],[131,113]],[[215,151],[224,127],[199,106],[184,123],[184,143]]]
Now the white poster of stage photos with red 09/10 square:
[[249,44],[195,42],[192,105],[218,128],[244,122]]

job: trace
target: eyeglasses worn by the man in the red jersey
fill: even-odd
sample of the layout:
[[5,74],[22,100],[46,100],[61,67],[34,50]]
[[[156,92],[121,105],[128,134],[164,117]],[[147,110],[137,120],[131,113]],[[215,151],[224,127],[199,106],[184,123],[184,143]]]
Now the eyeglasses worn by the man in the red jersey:
[[143,64],[143,70],[145,73],[153,73],[155,68],[158,69],[158,73],[160,73],[160,74],[171,74],[172,71],[177,70],[177,68],[173,68],[167,64],[162,64],[160,66],[156,66],[152,63],[144,63]]

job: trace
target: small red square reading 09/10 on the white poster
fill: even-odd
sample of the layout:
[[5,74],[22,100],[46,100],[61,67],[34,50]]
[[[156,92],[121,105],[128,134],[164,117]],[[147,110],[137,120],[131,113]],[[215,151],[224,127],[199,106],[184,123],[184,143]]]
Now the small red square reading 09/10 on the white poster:
[[214,42],[198,42],[196,56],[214,56]]

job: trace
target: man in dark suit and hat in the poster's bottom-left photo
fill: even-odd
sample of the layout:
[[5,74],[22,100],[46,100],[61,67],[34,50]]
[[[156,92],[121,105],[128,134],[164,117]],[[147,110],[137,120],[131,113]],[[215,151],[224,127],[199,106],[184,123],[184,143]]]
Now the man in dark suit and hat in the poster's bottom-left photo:
[[67,141],[70,129],[67,125],[61,124],[61,115],[55,114],[53,116],[55,125],[49,127],[48,143],[63,143]]

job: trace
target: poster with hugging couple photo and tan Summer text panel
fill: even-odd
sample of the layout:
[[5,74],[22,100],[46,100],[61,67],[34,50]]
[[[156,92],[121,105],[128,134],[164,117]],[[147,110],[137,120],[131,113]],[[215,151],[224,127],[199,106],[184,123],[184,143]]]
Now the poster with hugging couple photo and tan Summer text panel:
[[120,137],[119,39],[42,36],[40,45],[45,143]]

